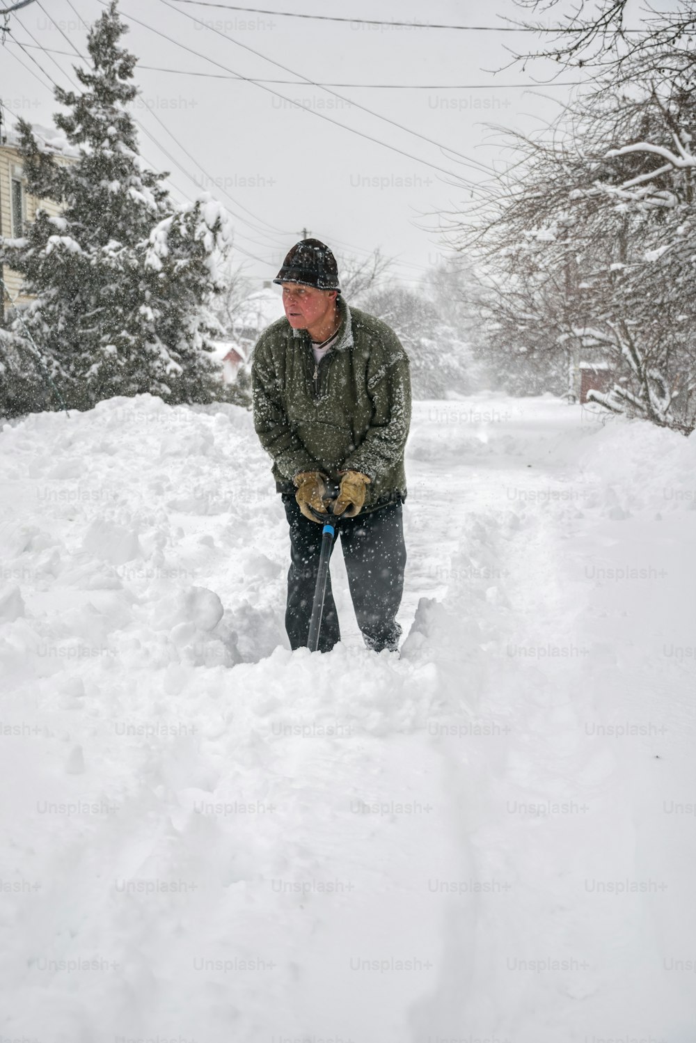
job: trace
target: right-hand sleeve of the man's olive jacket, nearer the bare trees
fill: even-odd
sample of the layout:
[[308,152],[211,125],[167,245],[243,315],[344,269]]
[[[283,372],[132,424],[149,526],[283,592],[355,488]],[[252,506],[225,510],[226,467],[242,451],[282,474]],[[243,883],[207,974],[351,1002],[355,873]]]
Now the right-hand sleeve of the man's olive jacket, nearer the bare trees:
[[411,366],[396,334],[373,351],[368,365],[372,421],[342,470],[359,470],[375,481],[403,458],[411,427]]

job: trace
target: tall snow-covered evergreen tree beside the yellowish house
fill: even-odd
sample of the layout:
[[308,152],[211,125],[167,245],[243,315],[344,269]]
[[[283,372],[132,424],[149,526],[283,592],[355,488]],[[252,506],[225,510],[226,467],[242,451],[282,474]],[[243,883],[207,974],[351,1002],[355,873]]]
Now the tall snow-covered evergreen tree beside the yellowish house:
[[30,331],[65,399],[80,409],[145,391],[205,402],[217,383],[209,339],[218,326],[207,306],[221,289],[216,257],[229,247],[230,228],[209,197],[176,204],[167,175],[141,160],[129,113],[136,58],[120,46],[126,31],[113,0],[89,34],[92,68],[75,69],[83,90],[55,90],[68,110],[55,123],[79,152],[75,163],[56,163],[20,121],[27,191],[52,199],[60,216],[40,211],[24,238],[0,239],[0,263],[24,276],[34,298],[10,329],[15,351],[28,351]]

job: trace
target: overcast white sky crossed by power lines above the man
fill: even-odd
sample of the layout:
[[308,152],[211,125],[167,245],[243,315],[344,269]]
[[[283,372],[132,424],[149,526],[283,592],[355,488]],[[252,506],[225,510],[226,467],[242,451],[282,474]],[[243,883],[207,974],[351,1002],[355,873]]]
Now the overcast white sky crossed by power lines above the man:
[[[68,87],[71,65],[78,59],[53,54],[56,66],[51,57],[28,45],[69,51],[52,16],[84,53],[85,29],[80,19],[93,22],[103,10],[99,0],[71,2],[74,9],[68,0],[42,0],[43,8],[34,2],[18,11],[11,16],[13,35],[27,45],[27,52],[10,43],[0,49],[0,97],[31,122],[51,125],[56,104],[48,77]],[[431,0],[428,4],[355,0],[349,7],[334,0],[257,2],[274,10],[466,26],[502,26],[504,17],[520,16],[512,0]],[[427,164],[474,183],[492,176],[463,165],[463,160],[438,145],[446,145],[490,171],[502,169],[505,154],[501,141],[492,136],[487,124],[539,127],[556,112],[551,98],[564,101],[571,90],[556,84],[535,87],[532,76],[544,77],[541,66],[532,66],[526,73],[519,66],[495,71],[509,60],[505,47],[522,49],[525,43],[533,44],[529,34],[340,24],[177,4],[176,0],[170,6],[165,0],[122,0],[120,10],[131,26],[126,44],[140,62],[136,81],[142,98],[135,115],[182,169],[144,134],[142,152],[157,169],[171,171],[179,197],[209,191],[251,222],[234,223],[237,245],[255,258],[240,253],[240,260],[248,261],[252,288],[276,274],[282,257],[303,228],[339,252],[365,254],[379,246],[398,259],[396,277],[406,284],[418,282],[445,252],[438,235],[423,226],[433,219],[428,222],[420,215],[456,209],[469,192],[468,187],[451,184],[454,178]],[[152,28],[136,24],[129,16]],[[27,53],[36,58],[41,70]],[[16,55],[35,75],[23,68]],[[351,84],[426,84],[428,89],[333,88],[348,99],[343,101],[302,82],[267,83],[278,92],[273,94],[251,82],[192,76],[184,71],[266,80],[301,81],[306,77]],[[574,74],[561,77],[564,82],[575,79]],[[548,97],[530,93],[530,88]],[[438,144],[390,125],[356,108],[355,103]],[[317,114],[376,141],[351,134]],[[414,159],[390,151],[384,144]]]

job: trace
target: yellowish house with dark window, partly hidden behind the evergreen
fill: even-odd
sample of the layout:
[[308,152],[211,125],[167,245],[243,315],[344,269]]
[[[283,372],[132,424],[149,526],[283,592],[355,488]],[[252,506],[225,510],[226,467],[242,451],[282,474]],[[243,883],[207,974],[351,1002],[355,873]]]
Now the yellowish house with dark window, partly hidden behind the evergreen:
[[[51,152],[58,163],[73,163],[78,157],[79,152],[71,148],[57,130],[41,126],[33,126],[32,129],[40,149]],[[19,135],[15,130],[5,130],[0,123],[0,236],[5,239],[21,239],[27,223],[33,221],[40,208],[51,217],[60,213],[52,199],[38,199],[29,195],[19,152]],[[0,274],[13,299],[28,299],[22,293],[22,276],[19,272],[0,267]],[[0,293],[0,322],[10,302]]]

